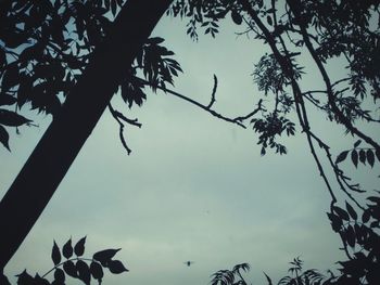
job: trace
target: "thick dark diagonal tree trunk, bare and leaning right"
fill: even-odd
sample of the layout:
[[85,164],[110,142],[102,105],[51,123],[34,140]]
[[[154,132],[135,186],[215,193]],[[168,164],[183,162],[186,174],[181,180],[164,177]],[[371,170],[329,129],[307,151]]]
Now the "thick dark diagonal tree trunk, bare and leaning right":
[[107,39],[97,47],[78,83],[0,203],[0,275],[104,112],[172,0],[128,0]]

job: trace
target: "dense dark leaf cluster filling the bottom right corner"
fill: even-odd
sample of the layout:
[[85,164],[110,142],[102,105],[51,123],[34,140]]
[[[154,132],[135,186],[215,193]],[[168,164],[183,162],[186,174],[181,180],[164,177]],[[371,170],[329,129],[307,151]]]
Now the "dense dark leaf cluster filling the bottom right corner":
[[352,252],[349,260],[338,262],[341,275],[331,284],[376,284],[380,277],[380,197],[369,196],[367,202],[360,215],[347,202],[328,212],[332,230]]

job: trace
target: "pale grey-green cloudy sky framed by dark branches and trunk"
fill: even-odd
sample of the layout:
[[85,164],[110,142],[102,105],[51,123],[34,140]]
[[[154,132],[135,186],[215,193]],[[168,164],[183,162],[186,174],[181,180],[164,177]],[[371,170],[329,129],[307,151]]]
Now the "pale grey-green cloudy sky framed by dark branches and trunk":
[[[231,117],[250,113],[258,101],[250,74],[266,51],[237,30],[226,23],[216,39],[201,37],[198,43],[177,20],[165,17],[154,30],[185,70],[174,89],[206,104],[216,74],[214,107]],[[305,76],[303,86],[317,85],[313,72]],[[250,281],[264,284],[263,271],[278,280],[297,256],[321,271],[343,258],[325,213],[329,195],[302,134],[286,141],[288,155],[261,157],[252,130],[169,94],[150,94],[131,111],[114,104],[142,122],[141,129],[126,127],[131,155],[105,112],[5,274],[25,268],[45,273],[52,267],[53,239],[62,245],[85,235],[88,257],[123,248],[116,257],[130,272],[107,274],[105,284],[112,285],[207,284],[215,271],[241,262],[252,265]],[[0,197],[49,121],[39,117],[40,128],[13,135],[12,153],[0,148]],[[338,150],[350,147],[342,129],[326,128],[324,117],[312,122]],[[187,260],[195,262],[186,267]]]

